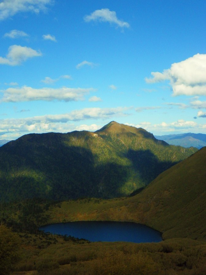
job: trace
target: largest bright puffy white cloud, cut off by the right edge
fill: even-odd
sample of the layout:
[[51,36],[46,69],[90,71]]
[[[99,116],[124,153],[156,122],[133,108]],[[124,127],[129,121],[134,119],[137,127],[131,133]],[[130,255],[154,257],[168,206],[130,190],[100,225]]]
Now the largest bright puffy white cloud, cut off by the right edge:
[[184,61],[173,63],[170,69],[152,72],[147,83],[170,81],[173,95],[206,95],[206,54],[196,54]]

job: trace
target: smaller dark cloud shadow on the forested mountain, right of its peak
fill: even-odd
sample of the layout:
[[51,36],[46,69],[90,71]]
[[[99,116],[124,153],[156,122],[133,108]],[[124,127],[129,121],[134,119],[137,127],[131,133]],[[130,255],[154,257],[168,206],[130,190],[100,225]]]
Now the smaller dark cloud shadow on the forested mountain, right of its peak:
[[126,157],[132,162],[133,168],[139,173],[142,180],[149,184],[160,173],[169,169],[177,162],[159,161],[150,150],[128,150]]

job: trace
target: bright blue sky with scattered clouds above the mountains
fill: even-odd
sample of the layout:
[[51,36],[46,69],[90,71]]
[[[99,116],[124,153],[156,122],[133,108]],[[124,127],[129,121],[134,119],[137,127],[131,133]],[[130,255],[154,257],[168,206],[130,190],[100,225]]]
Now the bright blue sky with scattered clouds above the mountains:
[[0,0],[0,139],[206,134],[206,1]]

